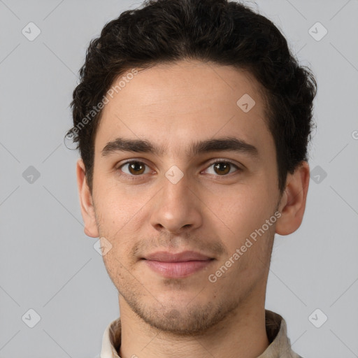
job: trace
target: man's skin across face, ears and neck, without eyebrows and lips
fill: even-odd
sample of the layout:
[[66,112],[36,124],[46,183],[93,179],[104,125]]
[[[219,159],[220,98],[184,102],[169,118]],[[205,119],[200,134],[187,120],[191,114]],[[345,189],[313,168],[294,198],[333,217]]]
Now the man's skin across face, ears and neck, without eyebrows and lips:
[[[180,61],[139,71],[103,108],[92,195],[81,159],[77,176],[85,234],[112,245],[103,261],[119,292],[120,357],[250,358],[268,347],[264,305],[273,238],[301,225],[309,166],[302,162],[287,176],[280,196],[259,93],[247,71]],[[255,100],[248,113],[236,105],[243,94]],[[164,153],[101,155],[119,136],[147,139]],[[258,157],[225,150],[187,157],[192,142],[224,136],[255,145]],[[121,166],[127,159],[146,164],[145,172],[140,164],[134,171]],[[213,162],[242,170],[215,171]],[[176,184],[165,176],[173,165],[183,173]],[[280,218],[210,282],[208,275],[276,210]],[[164,278],[141,260],[158,250],[194,250],[214,260],[187,278]]]

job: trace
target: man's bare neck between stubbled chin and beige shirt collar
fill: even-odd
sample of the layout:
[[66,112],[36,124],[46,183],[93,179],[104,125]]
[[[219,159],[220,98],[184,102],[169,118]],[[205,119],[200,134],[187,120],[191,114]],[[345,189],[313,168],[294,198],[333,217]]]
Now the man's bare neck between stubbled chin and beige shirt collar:
[[[266,335],[264,303],[243,302],[214,327],[195,336],[159,331],[138,317],[122,296],[120,317],[121,358],[255,358],[270,344]],[[252,303],[252,301],[251,301]]]

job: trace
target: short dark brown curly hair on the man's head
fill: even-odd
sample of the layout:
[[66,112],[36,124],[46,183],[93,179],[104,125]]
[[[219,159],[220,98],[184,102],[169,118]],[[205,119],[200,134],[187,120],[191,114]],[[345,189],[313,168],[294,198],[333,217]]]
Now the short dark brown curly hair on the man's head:
[[227,0],[147,0],[108,22],[90,41],[71,101],[73,127],[66,136],[78,143],[91,193],[94,138],[103,108],[98,103],[123,73],[182,59],[233,66],[257,79],[282,194],[287,173],[308,162],[317,84],[273,22]]

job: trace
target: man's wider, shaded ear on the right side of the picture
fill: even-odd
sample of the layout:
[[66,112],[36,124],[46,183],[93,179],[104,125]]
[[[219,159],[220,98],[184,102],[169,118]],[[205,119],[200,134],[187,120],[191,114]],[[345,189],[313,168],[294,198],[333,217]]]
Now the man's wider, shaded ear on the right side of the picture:
[[300,227],[306,208],[309,183],[310,167],[306,161],[301,162],[293,174],[287,175],[285,192],[279,204],[281,216],[276,222],[277,234],[292,234]]

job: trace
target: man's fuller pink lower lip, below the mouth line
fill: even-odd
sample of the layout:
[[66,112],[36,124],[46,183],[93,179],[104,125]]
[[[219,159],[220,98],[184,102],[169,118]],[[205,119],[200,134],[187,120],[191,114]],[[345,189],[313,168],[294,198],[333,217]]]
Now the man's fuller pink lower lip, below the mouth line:
[[192,273],[206,268],[213,259],[202,261],[187,262],[161,262],[154,260],[144,260],[144,262],[152,268],[153,271],[159,273],[166,278],[185,278]]

